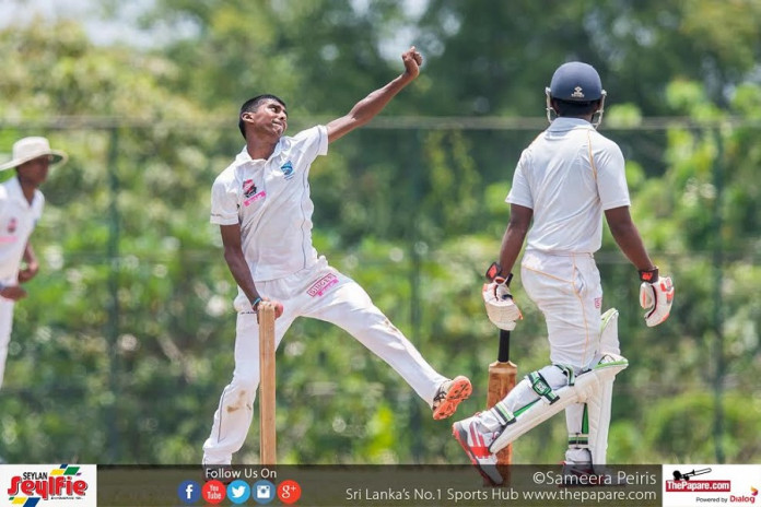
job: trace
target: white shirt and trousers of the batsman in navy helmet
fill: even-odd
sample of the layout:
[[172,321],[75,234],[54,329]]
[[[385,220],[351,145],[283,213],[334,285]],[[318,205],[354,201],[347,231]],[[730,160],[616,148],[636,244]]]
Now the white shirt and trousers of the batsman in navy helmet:
[[520,275],[547,320],[550,359],[586,367],[600,339],[602,212],[630,205],[623,154],[588,121],[557,118],[523,152],[506,201],[534,211]]

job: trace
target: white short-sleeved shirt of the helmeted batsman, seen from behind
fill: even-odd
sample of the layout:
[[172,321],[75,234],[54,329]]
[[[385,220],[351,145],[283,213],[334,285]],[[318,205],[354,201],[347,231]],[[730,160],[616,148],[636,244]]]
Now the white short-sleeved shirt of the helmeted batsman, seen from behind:
[[505,201],[534,210],[527,249],[594,254],[602,212],[631,204],[621,149],[588,121],[555,118],[524,150]]

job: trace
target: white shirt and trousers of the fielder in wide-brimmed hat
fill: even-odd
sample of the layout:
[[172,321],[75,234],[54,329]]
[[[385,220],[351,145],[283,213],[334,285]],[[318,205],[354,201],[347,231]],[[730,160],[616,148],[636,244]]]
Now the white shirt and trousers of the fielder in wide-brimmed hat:
[[[19,284],[19,268],[26,241],[43,214],[44,204],[45,198],[39,190],[35,190],[30,204],[16,177],[0,185],[0,283],[3,285]],[[0,297],[0,386],[13,328],[14,304]]]

